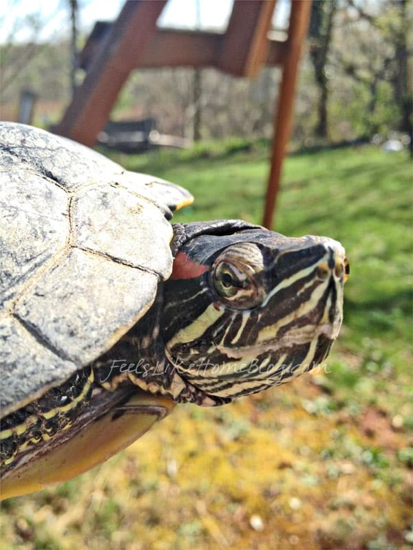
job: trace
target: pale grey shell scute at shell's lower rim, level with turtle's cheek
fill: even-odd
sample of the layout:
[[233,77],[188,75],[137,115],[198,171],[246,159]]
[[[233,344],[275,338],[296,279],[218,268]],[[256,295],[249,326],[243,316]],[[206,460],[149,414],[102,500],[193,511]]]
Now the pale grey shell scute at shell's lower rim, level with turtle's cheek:
[[157,286],[155,274],[74,248],[25,293],[15,314],[61,357],[87,364],[149,309]]

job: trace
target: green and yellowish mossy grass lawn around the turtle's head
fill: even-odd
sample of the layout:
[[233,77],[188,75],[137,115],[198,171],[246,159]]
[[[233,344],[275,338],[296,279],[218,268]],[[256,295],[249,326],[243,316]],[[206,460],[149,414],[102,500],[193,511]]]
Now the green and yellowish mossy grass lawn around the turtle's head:
[[[189,188],[177,221],[260,222],[266,149],[233,145],[115,159]],[[222,408],[180,406],[92,472],[6,501],[3,549],[411,547],[412,164],[370,146],[292,155],[275,228],[346,247],[326,368]]]

